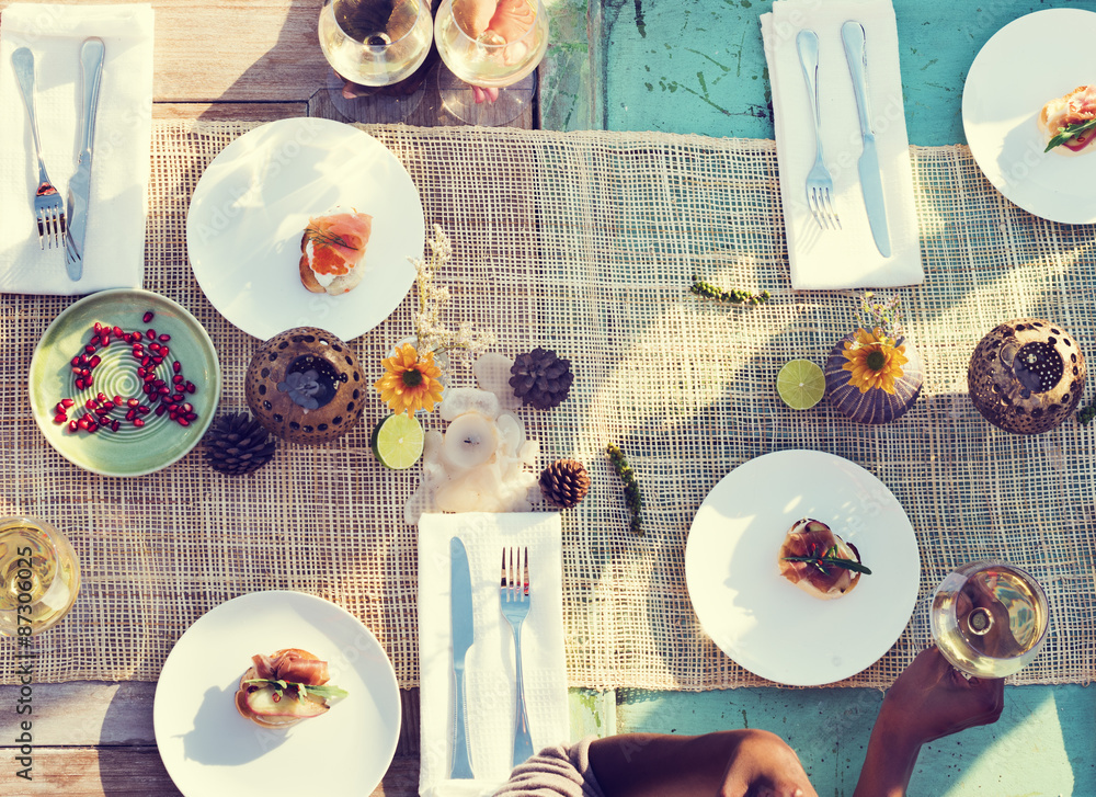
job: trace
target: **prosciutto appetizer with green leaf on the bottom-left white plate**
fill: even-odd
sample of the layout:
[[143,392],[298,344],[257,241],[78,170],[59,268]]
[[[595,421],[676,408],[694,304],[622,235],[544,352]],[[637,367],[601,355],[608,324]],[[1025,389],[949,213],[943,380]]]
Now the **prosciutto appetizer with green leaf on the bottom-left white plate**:
[[236,691],[240,716],[264,728],[288,728],[302,719],[327,714],[346,696],[328,684],[328,662],[307,650],[287,648],[273,656],[251,657],[251,667]]

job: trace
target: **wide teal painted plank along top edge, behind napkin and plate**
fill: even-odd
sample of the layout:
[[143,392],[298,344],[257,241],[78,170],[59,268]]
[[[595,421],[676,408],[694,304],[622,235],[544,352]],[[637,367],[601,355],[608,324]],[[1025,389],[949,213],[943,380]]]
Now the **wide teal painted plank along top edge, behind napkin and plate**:
[[[966,144],[962,86],[978,50],[1013,20],[1055,7],[1096,11],[1096,0],[894,0],[910,143]],[[604,129],[773,138],[758,23],[770,0],[591,0],[591,9],[601,13],[592,80]]]

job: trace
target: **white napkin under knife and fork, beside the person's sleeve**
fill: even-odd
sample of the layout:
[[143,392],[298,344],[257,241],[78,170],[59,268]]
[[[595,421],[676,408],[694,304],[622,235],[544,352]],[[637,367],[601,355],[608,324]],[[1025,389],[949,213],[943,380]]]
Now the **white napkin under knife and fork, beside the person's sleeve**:
[[[450,781],[453,638],[449,539],[468,551],[476,641],[465,658],[468,749],[473,781]],[[514,636],[502,616],[502,551],[528,548],[533,605],[522,628],[522,665],[533,749],[570,736],[563,653],[563,561],[558,513],[424,514],[419,521],[419,670],[423,797],[491,795],[514,753]]]

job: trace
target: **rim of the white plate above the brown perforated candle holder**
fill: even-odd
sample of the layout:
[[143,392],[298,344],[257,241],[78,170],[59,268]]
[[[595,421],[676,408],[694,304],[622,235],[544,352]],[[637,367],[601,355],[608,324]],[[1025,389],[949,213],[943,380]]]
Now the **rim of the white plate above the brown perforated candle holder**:
[[[426,230],[426,208],[425,208],[425,206],[423,205],[423,202],[422,202],[422,192],[419,190],[419,185],[411,178],[411,173],[408,171],[407,167],[403,166],[402,161],[400,161],[400,159],[396,157],[396,153],[392,152],[392,150],[387,145],[385,145],[380,139],[378,139],[376,136],[373,136],[369,133],[367,133],[366,130],[363,130],[362,128],[356,127],[354,125],[345,124],[345,123],[339,122],[336,119],[324,118],[322,116],[290,116],[290,117],[287,117],[287,118],[274,119],[272,122],[266,122],[264,124],[256,125],[255,127],[252,127],[250,130],[247,130],[247,132],[242,133],[241,135],[239,135],[236,138],[233,138],[231,141],[229,141],[227,145],[225,145],[224,149],[221,149],[216,156],[214,156],[213,160],[210,160],[209,163],[205,167],[205,169],[203,169],[202,175],[198,178],[198,181],[197,181],[197,183],[194,186],[194,191],[191,194],[190,204],[187,205],[187,208],[186,208],[186,219],[185,219],[185,224],[184,224],[184,228],[185,228],[184,229],[184,239],[185,239],[185,242],[186,242],[186,252],[187,252],[187,260],[190,261],[190,265],[191,265],[191,273],[194,275],[195,281],[198,283],[198,286],[202,288],[203,295],[205,295],[205,297],[208,299],[209,304],[213,305],[214,309],[217,310],[217,312],[219,312],[225,318],[225,320],[227,320],[229,323],[231,323],[235,328],[237,328],[240,331],[242,331],[243,333],[249,334],[252,338],[255,338],[255,339],[261,340],[261,341],[270,340],[272,337],[274,337],[276,334],[279,334],[281,332],[283,332],[285,330],[284,329],[277,329],[277,330],[274,330],[271,334],[263,334],[261,332],[261,330],[259,330],[253,325],[249,325],[252,328],[248,329],[248,328],[246,328],[246,326],[243,326],[241,323],[238,323],[236,320],[233,320],[233,318],[231,318],[229,316],[229,314],[226,312],[220,307],[220,305],[218,304],[218,301],[215,300],[214,295],[212,295],[208,291],[206,291],[205,286],[203,285],[202,277],[199,276],[201,267],[202,267],[202,266],[198,265],[198,263],[201,261],[201,258],[199,258],[199,254],[198,254],[199,248],[195,247],[195,246],[192,246],[192,235],[194,235],[194,236],[197,235],[196,231],[192,231],[192,230],[194,230],[194,225],[197,224],[196,220],[192,224],[192,219],[195,218],[195,216],[194,216],[194,209],[195,209],[196,205],[199,205],[199,202],[204,198],[204,195],[206,193],[209,193],[210,191],[214,190],[214,186],[216,185],[216,183],[212,182],[212,180],[207,180],[207,175],[209,174],[210,168],[214,164],[216,164],[217,160],[219,158],[221,158],[226,152],[229,152],[230,150],[236,149],[236,148],[246,147],[247,146],[246,144],[240,144],[240,143],[244,141],[249,136],[251,136],[254,133],[259,133],[260,130],[270,130],[270,129],[275,128],[275,127],[276,128],[285,128],[285,134],[282,134],[283,137],[285,135],[289,135],[292,137],[292,135],[293,135],[293,133],[294,133],[295,129],[302,129],[302,128],[307,128],[309,126],[313,126],[317,129],[323,129],[323,130],[326,130],[326,133],[329,133],[329,134],[336,134],[338,133],[338,135],[344,135],[344,136],[346,136],[347,140],[353,140],[353,139],[357,138],[358,135],[364,136],[364,138],[362,138],[359,140],[372,141],[374,145],[376,145],[377,147],[379,147],[380,149],[383,149],[385,152],[387,152],[388,157],[390,157],[392,159],[392,162],[396,163],[403,171],[403,173],[407,175],[408,184],[410,185],[411,190],[414,193],[414,200],[415,200],[415,203],[419,206],[419,216],[420,216],[420,219],[422,221],[422,247],[425,247],[425,243],[426,243],[426,232],[427,232],[427,230]],[[203,187],[203,186],[205,186],[205,187]],[[420,251],[418,252],[418,254],[421,257],[421,253],[422,253],[422,251],[420,249]],[[412,253],[412,254],[414,254],[414,253]],[[411,287],[412,287],[413,284],[414,284],[414,277],[412,276],[411,281],[408,284],[407,291],[403,293],[403,297],[400,299],[399,303],[397,303],[396,307],[393,307],[391,310],[388,311],[388,317],[390,317],[391,314],[395,312],[396,309],[399,307],[399,305],[407,298],[407,295],[410,293]],[[214,293],[216,293],[216,292],[214,292]],[[310,296],[321,296],[320,294],[309,294],[309,295]],[[349,343],[349,342],[351,342],[353,340],[356,340],[357,338],[361,338],[364,334],[367,334],[372,330],[376,329],[380,323],[384,322],[384,320],[385,319],[381,319],[380,321],[378,321],[373,327],[369,327],[368,329],[363,329],[363,330],[357,331],[357,332],[355,332],[354,334],[351,334],[351,335],[343,334],[343,332],[345,332],[346,330],[338,330],[336,331],[336,330],[329,329],[329,331],[332,334],[335,334],[336,337],[341,338],[342,340],[344,340],[344,341],[346,341]],[[322,327],[323,326],[322,319],[318,319],[317,322],[313,323],[312,326]],[[292,329],[292,327],[286,327],[285,329]],[[327,329],[327,327],[324,327],[324,329]]]

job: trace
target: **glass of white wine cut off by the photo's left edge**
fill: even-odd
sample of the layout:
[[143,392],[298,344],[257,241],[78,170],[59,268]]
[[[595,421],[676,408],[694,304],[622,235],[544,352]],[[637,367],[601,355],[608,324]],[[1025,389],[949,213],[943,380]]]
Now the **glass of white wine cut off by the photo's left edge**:
[[0,635],[46,630],[79,590],[80,563],[60,532],[33,517],[0,517]]

